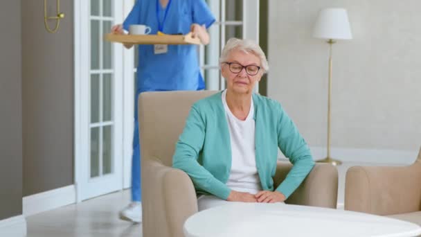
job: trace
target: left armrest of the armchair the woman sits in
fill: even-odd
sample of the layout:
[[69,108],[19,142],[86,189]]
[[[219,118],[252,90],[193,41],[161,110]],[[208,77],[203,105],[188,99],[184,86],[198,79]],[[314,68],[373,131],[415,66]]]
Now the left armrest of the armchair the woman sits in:
[[190,177],[159,159],[142,159],[143,236],[184,236],[184,222],[197,212]]

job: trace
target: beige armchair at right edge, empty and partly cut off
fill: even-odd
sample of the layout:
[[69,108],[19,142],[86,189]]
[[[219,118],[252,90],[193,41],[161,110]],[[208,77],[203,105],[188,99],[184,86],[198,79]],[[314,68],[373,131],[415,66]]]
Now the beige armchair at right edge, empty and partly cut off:
[[345,209],[421,225],[421,149],[411,166],[355,166],[346,173]]

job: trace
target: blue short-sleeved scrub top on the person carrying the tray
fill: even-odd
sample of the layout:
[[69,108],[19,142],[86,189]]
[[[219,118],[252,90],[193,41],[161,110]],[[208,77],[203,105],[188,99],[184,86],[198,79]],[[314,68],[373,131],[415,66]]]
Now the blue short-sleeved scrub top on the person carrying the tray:
[[[204,0],[170,0],[164,22],[165,8],[158,4],[156,9],[156,3],[159,0],[137,0],[123,28],[128,30],[131,24],[144,24],[151,28],[150,34],[156,34],[157,13],[165,34],[186,35],[193,23],[208,28],[215,22]],[[138,56],[138,92],[204,89],[196,45],[168,45],[167,53],[154,54],[153,45],[139,44]]]

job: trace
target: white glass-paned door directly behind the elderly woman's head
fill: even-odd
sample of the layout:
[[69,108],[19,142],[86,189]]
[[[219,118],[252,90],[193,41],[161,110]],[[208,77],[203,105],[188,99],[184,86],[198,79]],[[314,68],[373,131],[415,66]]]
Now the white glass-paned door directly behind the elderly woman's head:
[[[207,46],[200,46],[200,65],[206,89],[222,90],[226,83],[219,67],[220,52],[231,37],[259,43],[259,0],[207,0],[216,22],[209,28]],[[255,87],[258,91],[258,85]]]

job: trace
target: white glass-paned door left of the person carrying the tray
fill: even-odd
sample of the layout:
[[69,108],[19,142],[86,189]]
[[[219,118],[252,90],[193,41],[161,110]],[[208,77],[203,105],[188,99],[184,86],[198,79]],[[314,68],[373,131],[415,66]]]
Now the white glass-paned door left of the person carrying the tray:
[[78,202],[123,188],[123,48],[103,40],[123,3],[75,0],[75,183]]

